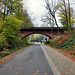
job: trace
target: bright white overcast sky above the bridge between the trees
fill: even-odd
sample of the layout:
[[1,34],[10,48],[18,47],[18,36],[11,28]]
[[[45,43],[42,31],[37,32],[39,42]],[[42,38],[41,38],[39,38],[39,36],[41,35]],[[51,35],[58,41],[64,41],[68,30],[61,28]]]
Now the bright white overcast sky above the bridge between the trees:
[[[73,4],[72,1],[74,0],[70,0],[71,6],[75,7],[75,4]],[[33,19],[32,22],[35,27],[40,27],[43,24],[41,18],[46,12],[44,5],[45,5],[44,0],[23,0],[24,9],[27,9],[29,16]],[[58,20],[59,19],[58,15],[56,15],[56,17],[58,24],[61,26]]]

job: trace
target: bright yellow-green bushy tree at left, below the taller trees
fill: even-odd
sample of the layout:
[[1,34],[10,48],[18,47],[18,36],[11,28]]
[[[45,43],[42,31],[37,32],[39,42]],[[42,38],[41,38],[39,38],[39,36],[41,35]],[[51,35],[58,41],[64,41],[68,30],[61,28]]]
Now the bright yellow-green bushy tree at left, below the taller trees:
[[6,45],[6,48],[9,46],[15,47],[17,44],[19,44],[17,35],[19,34],[21,22],[22,21],[15,18],[13,15],[9,15],[7,17],[7,20],[5,20],[5,25],[2,27],[3,30],[0,33],[0,44],[2,44],[1,48],[5,48]]

